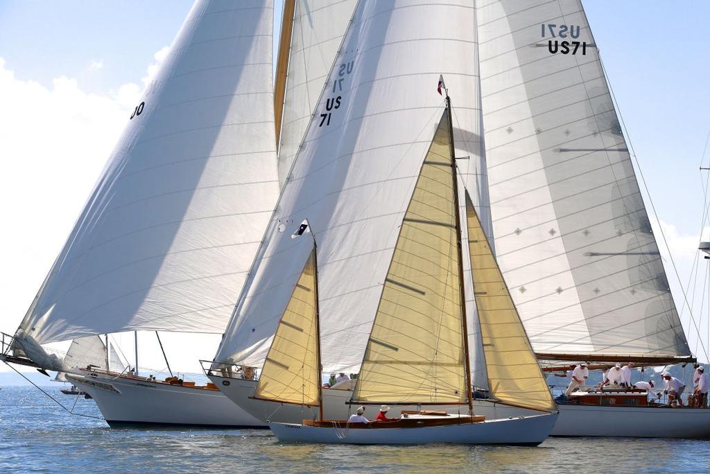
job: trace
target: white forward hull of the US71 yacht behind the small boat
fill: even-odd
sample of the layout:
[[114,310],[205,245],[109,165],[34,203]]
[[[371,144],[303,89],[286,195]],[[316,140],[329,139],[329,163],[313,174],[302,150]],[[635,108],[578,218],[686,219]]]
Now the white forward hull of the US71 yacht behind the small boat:
[[[232,402],[241,406],[247,413],[261,421],[300,424],[305,419],[315,419],[318,416],[317,408],[280,404],[278,402],[268,402],[266,400],[250,398],[256,387],[255,380],[227,379],[217,377],[216,375],[209,375],[208,377]],[[224,382],[229,382],[229,384],[225,385]],[[356,407],[347,404],[351,394],[352,392],[350,390],[323,389],[324,419],[347,419],[353,414]],[[400,411],[402,410],[417,410],[418,408],[419,407],[416,405],[392,406],[387,416],[396,418],[400,415]],[[446,410],[450,413],[454,413],[455,410],[457,410],[457,407],[452,405],[427,405],[421,408],[427,410]],[[365,416],[374,418],[377,414],[377,409],[376,406],[368,408]],[[476,415],[486,416],[486,419],[540,414],[539,411],[525,410],[493,402],[481,403],[479,400],[474,400],[474,413]]]

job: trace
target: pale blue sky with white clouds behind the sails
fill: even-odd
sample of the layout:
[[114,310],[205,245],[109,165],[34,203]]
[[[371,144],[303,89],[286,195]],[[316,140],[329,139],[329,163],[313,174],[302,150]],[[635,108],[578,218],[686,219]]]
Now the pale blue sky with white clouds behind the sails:
[[[695,285],[699,295],[710,262],[696,254],[706,227],[707,175],[698,168],[710,132],[710,2],[583,3],[657,212],[656,235],[663,231],[682,285]],[[0,0],[0,331],[16,330],[191,4]],[[659,245],[682,308],[672,261],[662,239]],[[698,300],[689,298],[695,322],[687,308],[682,321],[692,350],[705,359],[709,305],[701,312]],[[154,337],[141,338],[148,336]],[[173,366],[188,372],[199,368],[193,354],[211,358],[218,340],[161,337]],[[119,341],[129,353],[131,338]],[[159,369],[164,364],[151,341],[146,364]],[[187,355],[185,343],[203,349]]]

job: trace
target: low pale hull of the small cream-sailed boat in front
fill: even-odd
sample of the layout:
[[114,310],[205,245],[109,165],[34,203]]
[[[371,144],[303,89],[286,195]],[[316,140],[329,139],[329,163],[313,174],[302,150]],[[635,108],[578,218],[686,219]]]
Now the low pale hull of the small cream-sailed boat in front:
[[346,444],[515,444],[537,446],[555,425],[557,414],[499,419],[479,423],[423,428],[348,429],[271,423],[269,428],[285,443]]

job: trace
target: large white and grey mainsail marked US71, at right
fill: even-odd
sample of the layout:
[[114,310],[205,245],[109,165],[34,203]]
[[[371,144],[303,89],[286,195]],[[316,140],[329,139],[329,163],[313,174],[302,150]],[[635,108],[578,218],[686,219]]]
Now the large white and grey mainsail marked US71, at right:
[[476,6],[496,253],[535,351],[689,355],[581,3]]

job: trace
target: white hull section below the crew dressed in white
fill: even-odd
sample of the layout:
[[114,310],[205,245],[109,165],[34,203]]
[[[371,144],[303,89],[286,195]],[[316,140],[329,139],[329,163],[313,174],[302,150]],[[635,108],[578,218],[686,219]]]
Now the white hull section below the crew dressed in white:
[[551,436],[710,438],[710,409],[559,404]]

